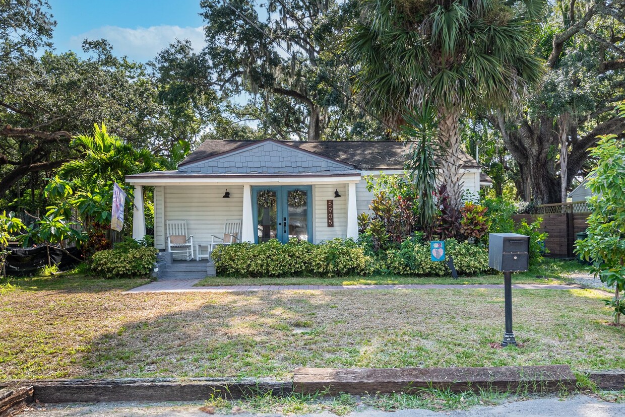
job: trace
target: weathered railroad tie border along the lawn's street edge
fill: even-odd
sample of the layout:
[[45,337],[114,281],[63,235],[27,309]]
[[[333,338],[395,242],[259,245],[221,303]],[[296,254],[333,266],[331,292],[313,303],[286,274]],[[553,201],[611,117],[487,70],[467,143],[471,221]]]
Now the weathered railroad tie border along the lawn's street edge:
[[[584,371],[602,390],[623,390],[625,370]],[[122,378],[111,380],[0,381],[0,417],[28,403],[98,401],[202,401],[211,396],[244,398],[271,393],[414,393],[424,388],[454,392],[576,390],[567,365],[494,368],[297,368],[292,381],[257,378]]]

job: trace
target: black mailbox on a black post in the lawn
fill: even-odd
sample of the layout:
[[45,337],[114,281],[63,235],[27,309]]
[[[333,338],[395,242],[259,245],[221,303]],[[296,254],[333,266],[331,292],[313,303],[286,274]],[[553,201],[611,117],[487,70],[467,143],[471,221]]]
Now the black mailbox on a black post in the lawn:
[[512,272],[529,268],[529,236],[490,233],[488,239],[488,265],[504,273],[506,330],[501,346],[516,345],[512,332]]

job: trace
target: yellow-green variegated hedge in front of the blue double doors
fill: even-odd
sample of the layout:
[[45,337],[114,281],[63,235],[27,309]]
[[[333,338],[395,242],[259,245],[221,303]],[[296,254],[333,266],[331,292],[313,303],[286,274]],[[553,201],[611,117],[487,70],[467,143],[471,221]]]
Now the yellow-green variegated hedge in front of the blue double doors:
[[352,240],[334,239],[314,245],[292,239],[221,245],[212,252],[219,275],[234,277],[341,277],[364,274],[371,258]]

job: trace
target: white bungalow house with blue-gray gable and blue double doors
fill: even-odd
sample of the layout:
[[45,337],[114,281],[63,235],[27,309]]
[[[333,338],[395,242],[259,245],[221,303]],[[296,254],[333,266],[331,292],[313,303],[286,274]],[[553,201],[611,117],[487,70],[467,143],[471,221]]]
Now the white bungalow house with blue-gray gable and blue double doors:
[[[224,237],[239,220],[239,242],[312,243],[357,238],[357,214],[369,211],[364,176],[402,174],[402,142],[296,142],[206,140],[174,171],[128,175],[135,187],[133,237],[143,238],[142,187],[154,187],[154,245],[168,248],[168,222],[186,224],[194,245]],[[469,155],[464,187],[479,191],[487,179]],[[486,184],[484,184],[486,185]],[[224,198],[227,197],[227,198]],[[194,256],[202,247],[194,247]]]

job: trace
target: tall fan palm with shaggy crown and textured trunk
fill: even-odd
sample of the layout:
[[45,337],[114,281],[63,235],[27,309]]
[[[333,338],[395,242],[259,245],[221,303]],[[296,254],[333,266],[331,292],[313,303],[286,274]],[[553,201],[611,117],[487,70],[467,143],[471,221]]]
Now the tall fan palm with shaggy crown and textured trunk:
[[[347,49],[359,66],[355,90],[397,127],[401,112],[437,110],[439,168],[451,204],[462,198],[458,120],[481,108],[518,102],[542,64],[532,54],[544,1],[363,0]],[[397,110],[399,109],[399,110]]]

